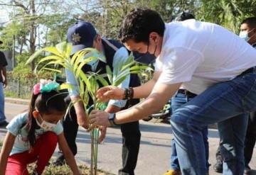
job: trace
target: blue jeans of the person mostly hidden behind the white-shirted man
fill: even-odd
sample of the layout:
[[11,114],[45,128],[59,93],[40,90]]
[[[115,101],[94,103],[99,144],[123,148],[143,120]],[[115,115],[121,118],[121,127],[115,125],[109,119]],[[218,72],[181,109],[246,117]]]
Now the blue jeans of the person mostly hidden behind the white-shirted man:
[[[188,101],[191,101],[196,95],[186,95],[177,93],[173,98],[171,98],[171,109],[172,112],[176,111],[178,108],[180,108],[183,104],[187,103]],[[208,144],[208,126],[206,126],[202,130],[203,135],[203,145],[206,152],[206,169],[209,168],[209,144]],[[178,157],[176,152],[176,143],[175,140],[171,140],[171,169],[180,170],[180,166],[178,164]]]

